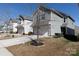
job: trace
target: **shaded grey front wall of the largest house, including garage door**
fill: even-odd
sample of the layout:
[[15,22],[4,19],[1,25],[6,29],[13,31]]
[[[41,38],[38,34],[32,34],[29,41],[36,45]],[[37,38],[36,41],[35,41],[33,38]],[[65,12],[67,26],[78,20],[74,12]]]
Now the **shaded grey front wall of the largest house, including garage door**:
[[[42,14],[45,14],[45,19],[40,19],[39,21],[39,34],[40,35],[48,35],[49,33],[49,20],[50,20],[50,14],[47,13],[47,12],[43,12],[41,10],[38,10],[39,11],[39,15],[42,15]],[[33,24],[34,24],[34,27],[33,27],[33,32],[34,34],[37,34],[37,28],[35,27],[37,25],[37,13],[33,16]],[[42,16],[40,16],[42,17]]]

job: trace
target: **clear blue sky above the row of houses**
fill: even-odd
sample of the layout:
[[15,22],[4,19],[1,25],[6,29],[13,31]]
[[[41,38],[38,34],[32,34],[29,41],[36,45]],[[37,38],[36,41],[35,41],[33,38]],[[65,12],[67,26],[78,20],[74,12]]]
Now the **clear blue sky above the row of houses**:
[[[9,20],[16,19],[18,15],[32,16],[38,6],[37,3],[0,3],[0,24]],[[79,6],[76,3],[47,3],[43,4],[45,7],[56,9],[70,15],[75,24],[79,26]]]

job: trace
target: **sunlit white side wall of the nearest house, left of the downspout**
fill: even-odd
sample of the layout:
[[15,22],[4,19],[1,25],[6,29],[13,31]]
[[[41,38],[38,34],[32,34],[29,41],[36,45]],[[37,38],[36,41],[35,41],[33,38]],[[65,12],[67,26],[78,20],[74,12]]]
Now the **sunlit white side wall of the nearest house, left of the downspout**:
[[63,23],[63,18],[51,12],[51,35],[55,35],[55,33],[61,33],[61,26]]

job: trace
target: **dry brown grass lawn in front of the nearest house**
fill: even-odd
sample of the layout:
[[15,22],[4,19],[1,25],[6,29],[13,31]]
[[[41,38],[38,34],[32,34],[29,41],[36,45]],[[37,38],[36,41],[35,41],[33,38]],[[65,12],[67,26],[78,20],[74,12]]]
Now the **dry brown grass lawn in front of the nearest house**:
[[64,38],[42,38],[44,45],[32,46],[30,43],[7,47],[15,56],[65,56],[76,53],[79,42]]

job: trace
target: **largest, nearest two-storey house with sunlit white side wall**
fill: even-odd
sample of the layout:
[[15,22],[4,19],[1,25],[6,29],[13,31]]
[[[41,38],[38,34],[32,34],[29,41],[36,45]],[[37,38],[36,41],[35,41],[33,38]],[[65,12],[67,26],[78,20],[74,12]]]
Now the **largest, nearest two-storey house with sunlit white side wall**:
[[40,6],[33,14],[33,32],[37,34],[37,21],[39,20],[39,34],[45,36],[55,35],[74,35],[74,20],[54,9],[48,9]]

